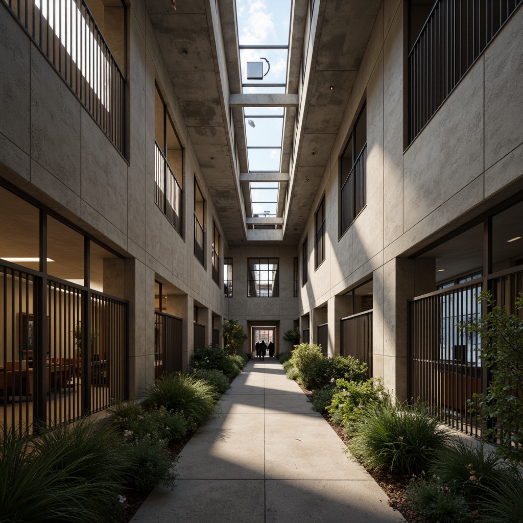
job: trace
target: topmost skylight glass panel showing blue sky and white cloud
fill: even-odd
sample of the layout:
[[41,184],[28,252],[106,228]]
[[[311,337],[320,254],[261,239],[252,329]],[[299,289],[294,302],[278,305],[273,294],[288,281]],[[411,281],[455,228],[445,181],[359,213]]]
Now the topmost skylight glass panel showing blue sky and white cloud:
[[291,0],[236,0],[241,46],[288,44]]

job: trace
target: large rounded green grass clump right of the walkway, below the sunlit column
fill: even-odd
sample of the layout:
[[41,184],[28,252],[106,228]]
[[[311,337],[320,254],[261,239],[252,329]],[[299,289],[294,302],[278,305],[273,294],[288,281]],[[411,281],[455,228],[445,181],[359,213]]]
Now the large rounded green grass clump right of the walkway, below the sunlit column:
[[350,451],[371,469],[417,474],[427,470],[449,438],[423,404],[409,406],[393,399],[371,403],[354,426]]

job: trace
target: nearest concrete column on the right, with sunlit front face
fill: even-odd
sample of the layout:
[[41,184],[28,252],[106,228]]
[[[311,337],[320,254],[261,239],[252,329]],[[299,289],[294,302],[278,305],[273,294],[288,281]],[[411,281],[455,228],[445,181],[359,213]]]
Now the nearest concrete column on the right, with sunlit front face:
[[[374,311],[381,309],[383,317],[383,381],[400,400],[407,399],[407,300],[435,290],[435,274],[434,259],[395,258],[383,266],[374,286],[383,289],[381,299],[374,293]],[[380,270],[375,276],[381,276]],[[374,328],[373,333],[379,334]]]

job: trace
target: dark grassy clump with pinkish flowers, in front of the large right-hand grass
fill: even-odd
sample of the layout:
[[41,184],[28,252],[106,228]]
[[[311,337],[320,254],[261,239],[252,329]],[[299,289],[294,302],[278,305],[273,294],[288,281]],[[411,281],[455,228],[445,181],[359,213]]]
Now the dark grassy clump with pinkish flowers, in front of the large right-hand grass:
[[486,452],[483,441],[467,445],[462,438],[443,447],[429,471],[439,481],[461,492],[470,502],[506,479],[506,470],[495,452]]

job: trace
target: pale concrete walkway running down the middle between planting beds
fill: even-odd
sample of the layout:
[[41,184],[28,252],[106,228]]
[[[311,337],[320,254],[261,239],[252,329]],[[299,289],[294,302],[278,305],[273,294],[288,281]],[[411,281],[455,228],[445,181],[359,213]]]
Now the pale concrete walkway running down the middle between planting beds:
[[250,360],[131,521],[396,523],[401,514],[275,358]]

